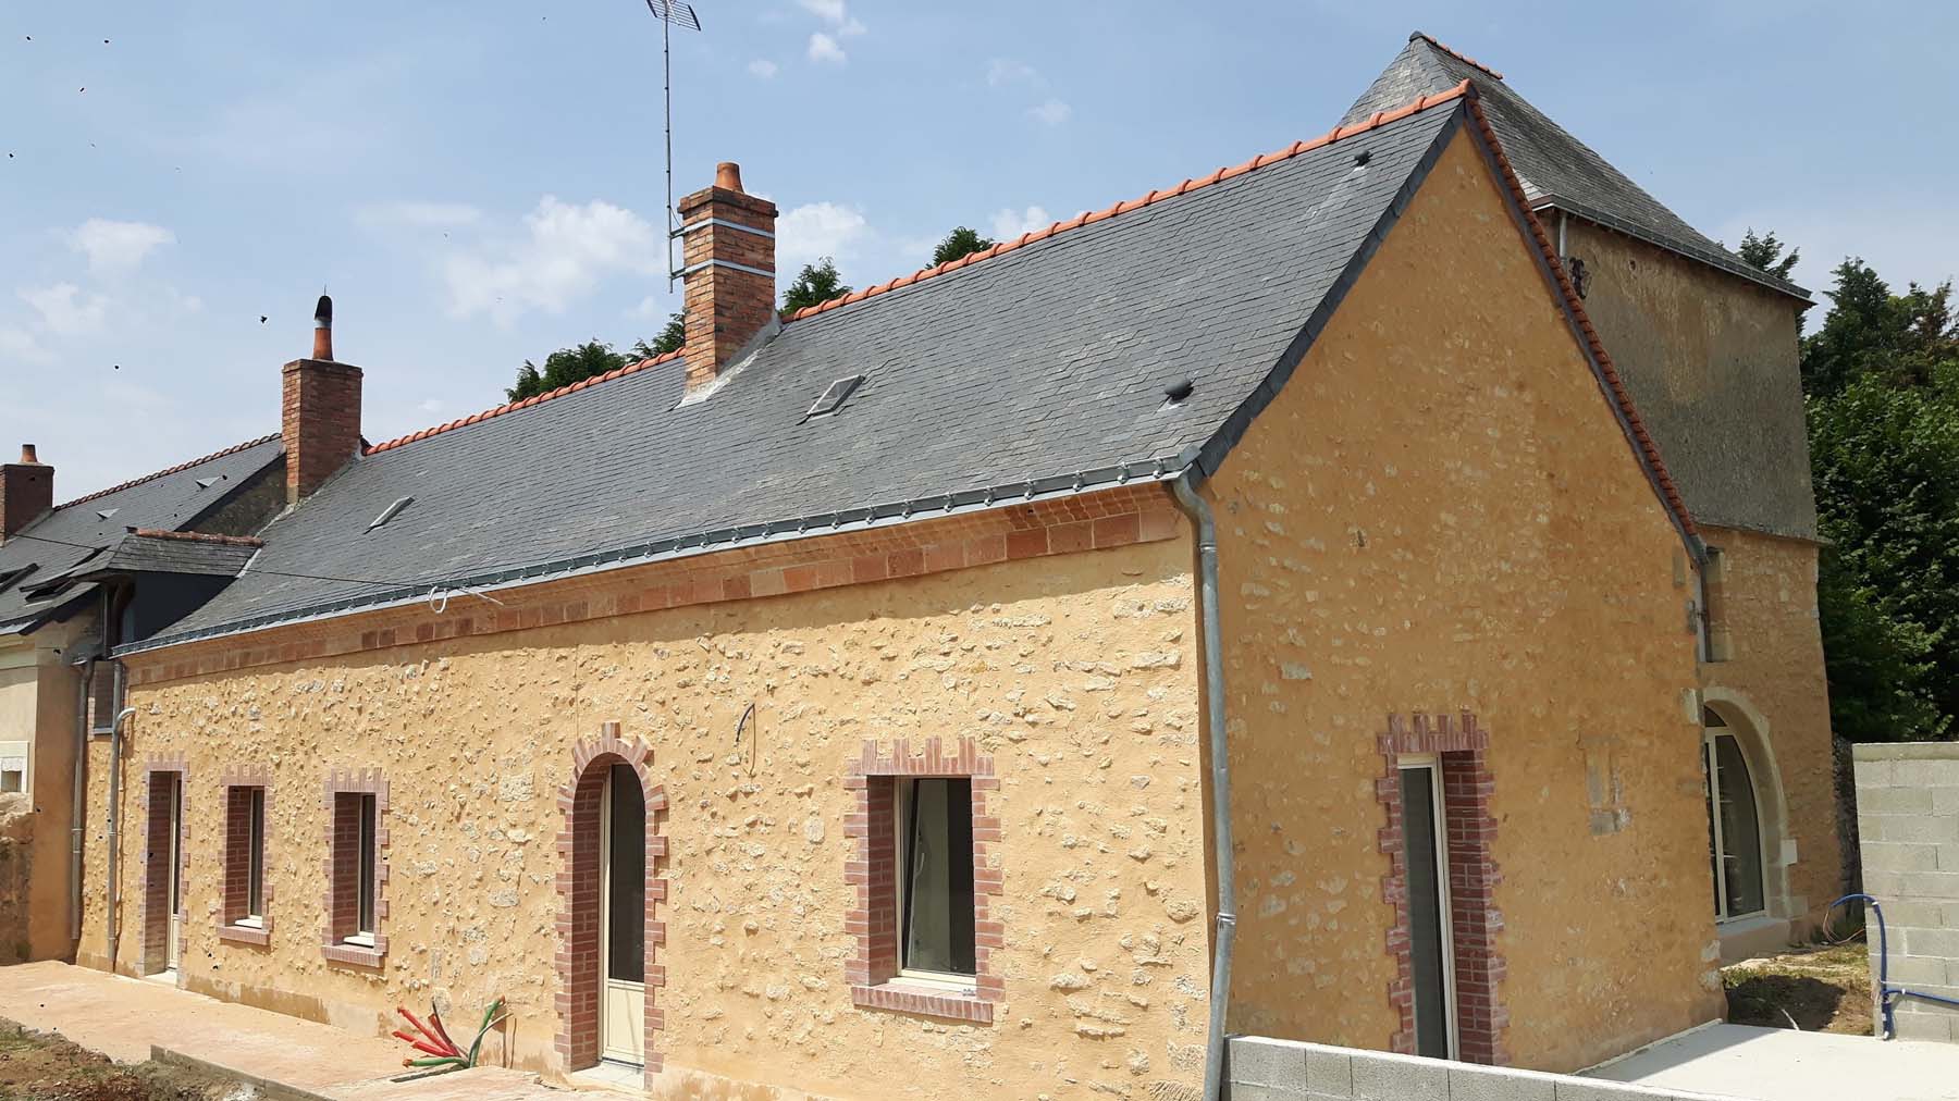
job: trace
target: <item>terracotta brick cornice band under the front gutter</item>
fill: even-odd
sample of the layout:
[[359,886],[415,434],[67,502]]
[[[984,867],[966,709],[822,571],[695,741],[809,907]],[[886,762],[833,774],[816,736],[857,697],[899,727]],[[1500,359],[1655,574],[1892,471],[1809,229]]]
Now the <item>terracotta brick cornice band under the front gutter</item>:
[[423,601],[362,615],[186,643],[125,660],[131,688],[253,666],[317,660],[586,623],[701,603],[833,590],[993,562],[1103,550],[1171,539],[1181,523],[1158,484],[927,519],[854,533],[717,550],[588,578],[498,592],[500,605],[454,598],[445,615]]

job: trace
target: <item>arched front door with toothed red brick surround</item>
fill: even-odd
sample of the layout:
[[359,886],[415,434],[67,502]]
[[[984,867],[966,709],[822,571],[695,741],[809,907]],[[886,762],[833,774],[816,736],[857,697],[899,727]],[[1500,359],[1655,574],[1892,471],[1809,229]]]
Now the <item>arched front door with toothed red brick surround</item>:
[[645,742],[621,741],[607,723],[603,737],[578,744],[572,782],[560,790],[558,1050],[566,1070],[603,1062],[641,1068],[646,1079],[660,1070],[650,1036],[660,1027],[652,1003],[662,972],[652,956],[664,925],[652,907],[666,897],[664,880],[654,878],[666,854],[658,829],[666,795],[650,784],[650,760]]

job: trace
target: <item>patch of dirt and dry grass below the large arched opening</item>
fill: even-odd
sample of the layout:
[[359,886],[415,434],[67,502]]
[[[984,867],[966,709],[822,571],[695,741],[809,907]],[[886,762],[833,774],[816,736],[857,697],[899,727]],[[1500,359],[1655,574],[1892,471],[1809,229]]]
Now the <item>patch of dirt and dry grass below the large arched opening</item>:
[[1722,980],[1734,1025],[1871,1034],[1871,962],[1863,940],[1744,960],[1724,968]]

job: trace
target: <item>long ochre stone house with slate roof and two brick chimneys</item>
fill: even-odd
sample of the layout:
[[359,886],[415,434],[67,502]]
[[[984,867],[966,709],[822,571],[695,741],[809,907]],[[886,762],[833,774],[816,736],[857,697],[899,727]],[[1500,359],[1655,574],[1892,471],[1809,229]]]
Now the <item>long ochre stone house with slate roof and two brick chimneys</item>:
[[78,960],[502,997],[513,1064],[662,1097],[1718,1017],[1702,541],[1491,121],[1416,92],[788,319],[723,165],[680,353],[372,447],[286,364],[290,507],[116,646]]

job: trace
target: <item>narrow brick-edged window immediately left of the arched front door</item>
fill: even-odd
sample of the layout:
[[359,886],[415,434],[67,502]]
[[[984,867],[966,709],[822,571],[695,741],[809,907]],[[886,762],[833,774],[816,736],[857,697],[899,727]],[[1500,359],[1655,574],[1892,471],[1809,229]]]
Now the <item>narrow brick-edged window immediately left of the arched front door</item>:
[[[378,768],[327,774],[327,923],[319,954],[335,964],[378,968],[388,958],[388,780]],[[366,929],[362,929],[366,927]]]

